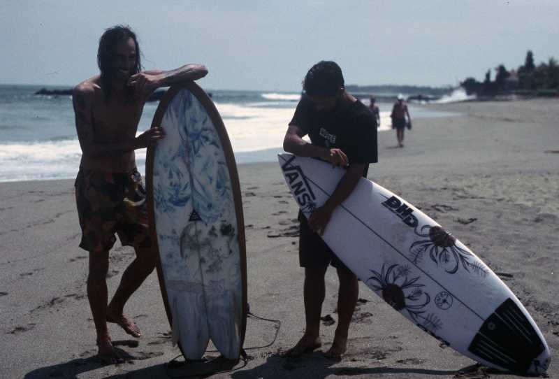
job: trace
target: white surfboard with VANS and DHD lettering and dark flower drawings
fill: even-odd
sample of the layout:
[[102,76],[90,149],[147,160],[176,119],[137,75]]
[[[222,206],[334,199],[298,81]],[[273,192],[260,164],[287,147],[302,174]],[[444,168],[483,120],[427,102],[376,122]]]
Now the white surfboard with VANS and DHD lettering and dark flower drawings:
[[[279,155],[279,164],[306,217],[344,175],[289,154]],[[461,354],[516,373],[549,366],[542,332],[502,280],[440,224],[377,183],[361,178],[322,238],[372,291]]]

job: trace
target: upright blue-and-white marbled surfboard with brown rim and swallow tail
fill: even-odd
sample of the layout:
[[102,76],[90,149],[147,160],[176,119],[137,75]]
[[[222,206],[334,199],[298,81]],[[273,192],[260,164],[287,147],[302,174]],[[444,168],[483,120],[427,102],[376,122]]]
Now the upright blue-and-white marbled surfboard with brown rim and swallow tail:
[[240,185],[226,129],[195,83],[171,87],[154,115],[166,133],[147,152],[152,240],[166,312],[185,358],[211,340],[237,360],[247,277]]

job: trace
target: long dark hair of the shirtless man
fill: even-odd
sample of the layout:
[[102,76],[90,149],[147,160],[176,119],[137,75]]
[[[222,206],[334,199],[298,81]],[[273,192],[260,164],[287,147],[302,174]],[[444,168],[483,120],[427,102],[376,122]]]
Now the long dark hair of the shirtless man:
[[[105,29],[105,32],[99,38],[99,50],[97,50],[97,66],[101,70],[101,83],[103,85],[103,94],[105,95],[105,101],[110,99],[110,94],[112,92],[112,73],[113,67],[112,62],[115,59],[115,50],[117,44],[120,41],[126,41],[128,38],[132,38],[136,44],[136,65],[134,66],[132,75],[139,73],[142,70],[142,64],[140,62],[140,45],[138,45],[138,39],[136,38],[136,33],[130,29],[128,25],[115,25]],[[128,95],[133,94],[132,90],[127,90]]]

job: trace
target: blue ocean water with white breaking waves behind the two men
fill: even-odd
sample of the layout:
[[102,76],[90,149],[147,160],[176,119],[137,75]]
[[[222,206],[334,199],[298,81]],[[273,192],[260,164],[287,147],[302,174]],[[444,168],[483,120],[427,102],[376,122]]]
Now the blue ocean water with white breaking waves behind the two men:
[[[60,90],[67,87],[48,87]],[[0,182],[75,178],[81,150],[71,96],[35,95],[38,85],[0,85]],[[238,163],[275,161],[300,95],[208,90],[222,115]],[[368,100],[363,100],[368,105]],[[158,102],[147,103],[138,133],[150,127]],[[391,129],[391,103],[379,103],[379,131]],[[444,113],[410,105],[412,119]],[[136,150],[145,173],[145,149]]]

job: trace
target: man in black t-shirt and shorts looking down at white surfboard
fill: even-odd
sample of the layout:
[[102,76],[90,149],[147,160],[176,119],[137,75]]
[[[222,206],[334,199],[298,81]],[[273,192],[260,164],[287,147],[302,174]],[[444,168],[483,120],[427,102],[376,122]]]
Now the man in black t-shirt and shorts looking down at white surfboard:
[[[347,334],[357,296],[357,277],[347,269],[321,238],[333,210],[367,176],[370,163],[377,162],[377,128],[372,113],[344,90],[344,78],[335,62],[312,66],[303,82],[303,96],[289,122],[284,150],[300,157],[318,157],[347,168],[332,196],[315,209],[309,220],[299,213],[299,260],[305,268],[305,334],[286,352],[297,357],[321,346],[320,315],[325,296],[324,276],[328,264],[337,269],[340,289],[339,317],[334,341],[326,357],[339,359],[347,349]],[[311,143],[303,140],[308,135]]]

